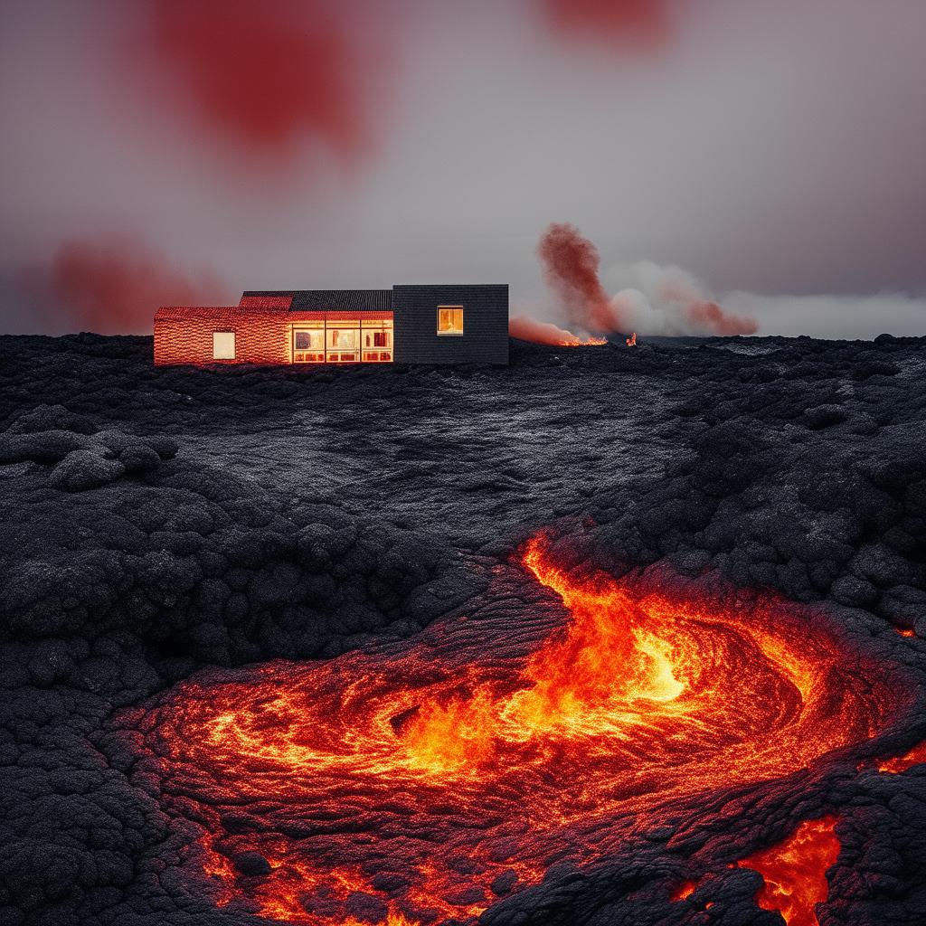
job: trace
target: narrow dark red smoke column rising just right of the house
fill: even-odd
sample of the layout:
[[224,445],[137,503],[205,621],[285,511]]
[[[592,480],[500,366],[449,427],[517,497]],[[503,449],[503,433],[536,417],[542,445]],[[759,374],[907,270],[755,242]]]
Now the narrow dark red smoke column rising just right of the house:
[[598,279],[598,249],[569,222],[551,223],[537,245],[544,279],[563,300],[569,320],[586,331],[614,332],[620,319]]

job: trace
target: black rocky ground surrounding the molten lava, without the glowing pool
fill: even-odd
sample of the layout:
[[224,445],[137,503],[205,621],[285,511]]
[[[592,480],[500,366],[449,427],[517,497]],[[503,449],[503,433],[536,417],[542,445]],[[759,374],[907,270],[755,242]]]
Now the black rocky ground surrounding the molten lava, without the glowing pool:
[[[506,369],[305,370],[154,369],[147,338],[0,339],[0,923],[411,909],[407,871],[325,908],[321,894],[296,913],[261,906],[267,840],[318,838],[319,820],[300,830],[285,789],[255,805],[227,777],[204,782],[182,744],[163,751],[164,731],[184,732],[196,697],[246,700],[268,671],[282,686],[407,669],[422,647],[444,666],[484,651],[498,677],[523,667],[566,619],[523,566],[538,534],[575,582],[659,584],[746,622],[761,620],[756,594],[782,600],[798,636],[839,649],[813,680],[824,707],[842,717],[856,699],[868,720],[786,774],[725,784],[718,754],[696,796],[688,782],[645,813],[572,820],[533,880],[514,850],[480,871],[447,855],[463,851],[455,827],[472,847],[510,820],[455,823],[442,798],[419,835],[457,887],[510,870],[430,921],[772,926],[737,862],[820,818],[839,840],[820,923],[924,921],[926,765],[879,769],[926,738],[924,429],[926,339],[888,335],[513,342]],[[782,707],[770,732],[800,711]],[[388,842],[406,813],[350,807],[325,838],[350,834],[351,852],[357,833]],[[576,848],[593,843],[607,851]],[[396,837],[390,851],[411,850]]]

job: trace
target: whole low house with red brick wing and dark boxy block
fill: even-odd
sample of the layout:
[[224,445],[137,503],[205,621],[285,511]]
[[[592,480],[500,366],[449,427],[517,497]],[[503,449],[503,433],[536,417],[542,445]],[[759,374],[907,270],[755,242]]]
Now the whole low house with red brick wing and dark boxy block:
[[507,284],[249,291],[162,307],[155,364],[508,362]]

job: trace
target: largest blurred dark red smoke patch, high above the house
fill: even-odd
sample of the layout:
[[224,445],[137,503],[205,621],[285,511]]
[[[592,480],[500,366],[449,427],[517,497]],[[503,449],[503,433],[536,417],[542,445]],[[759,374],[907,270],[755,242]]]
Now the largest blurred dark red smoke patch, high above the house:
[[355,156],[369,142],[374,76],[356,26],[322,0],[151,0],[154,84],[245,154],[304,138]]

